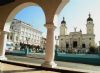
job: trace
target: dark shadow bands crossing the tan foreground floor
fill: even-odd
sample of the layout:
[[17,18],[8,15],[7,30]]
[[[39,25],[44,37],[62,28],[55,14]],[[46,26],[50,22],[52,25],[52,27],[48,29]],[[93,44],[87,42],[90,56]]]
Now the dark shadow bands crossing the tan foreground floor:
[[[62,69],[55,69],[55,68],[47,68],[47,67],[41,67],[41,66],[35,66],[35,65],[29,65],[29,64],[23,64],[23,63],[17,63],[17,62],[10,62],[10,61],[3,61],[0,60],[1,63],[6,63],[10,65],[20,66],[20,67],[26,67],[26,68],[32,68],[28,70],[12,70],[12,71],[4,71],[3,73],[15,73],[15,72],[26,72],[26,71],[51,71],[51,72],[58,72],[58,73],[85,73],[85,72],[78,72],[78,71],[71,71],[71,70],[62,70]],[[36,73],[36,72],[35,72]]]

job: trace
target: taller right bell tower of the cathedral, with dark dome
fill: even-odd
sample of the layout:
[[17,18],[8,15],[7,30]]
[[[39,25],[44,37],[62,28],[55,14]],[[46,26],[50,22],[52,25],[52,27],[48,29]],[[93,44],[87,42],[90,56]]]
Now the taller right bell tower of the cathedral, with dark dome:
[[87,19],[87,34],[94,34],[94,24],[93,24],[93,19],[91,18],[91,14],[89,14],[89,17]]

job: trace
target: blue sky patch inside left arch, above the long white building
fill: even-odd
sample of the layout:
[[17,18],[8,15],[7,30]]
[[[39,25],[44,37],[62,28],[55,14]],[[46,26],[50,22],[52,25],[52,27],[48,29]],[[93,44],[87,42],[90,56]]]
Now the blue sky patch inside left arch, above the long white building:
[[26,7],[22,9],[19,13],[17,13],[15,19],[31,24],[33,28],[45,32],[44,28],[45,15],[41,7],[38,6]]

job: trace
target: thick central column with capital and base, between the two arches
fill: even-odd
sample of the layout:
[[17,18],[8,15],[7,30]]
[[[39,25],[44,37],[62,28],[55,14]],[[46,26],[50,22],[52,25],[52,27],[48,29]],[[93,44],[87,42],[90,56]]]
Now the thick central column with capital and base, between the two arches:
[[54,30],[55,26],[53,24],[46,24],[47,27],[47,40],[45,48],[45,62],[42,64],[43,67],[54,68],[57,66],[54,62],[55,56],[55,46],[54,46]]

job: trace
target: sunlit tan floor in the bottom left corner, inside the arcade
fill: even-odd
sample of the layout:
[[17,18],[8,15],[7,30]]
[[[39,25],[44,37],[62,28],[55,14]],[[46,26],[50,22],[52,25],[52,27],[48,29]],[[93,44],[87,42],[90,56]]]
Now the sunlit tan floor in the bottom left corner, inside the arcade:
[[0,63],[0,73],[59,73]]

